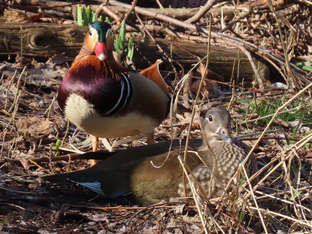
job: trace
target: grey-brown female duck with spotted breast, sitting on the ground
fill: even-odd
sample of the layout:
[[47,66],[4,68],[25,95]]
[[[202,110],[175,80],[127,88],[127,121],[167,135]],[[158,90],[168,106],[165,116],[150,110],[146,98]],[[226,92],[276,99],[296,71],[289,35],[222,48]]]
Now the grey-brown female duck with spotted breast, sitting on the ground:
[[[203,127],[213,154],[205,140],[193,139],[189,150],[197,151],[202,160],[189,152],[186,163],[207,195],[220,195],[248,155],[249,148],[231,137],[231,116],[223,108],[209,109]],[[78,183],[110,198],[128,195],[127,199],[141,205],[178,201],[184,191],[177,156],[183,154],[185,145],[180,146],[178,140],[174,140],[168,156],[170,144],[171,141],[164,141],[116,153],[86,153],[86,156],[106,158],[86,170],[44,176],[43,179],[53,183]],[[161,167],[154,167],[151,161],[156,166],[165,162]],[[248,158],[246,165],[250,175],[257,171],[254,155]],[[190,194],[189,186],[187,190]]]

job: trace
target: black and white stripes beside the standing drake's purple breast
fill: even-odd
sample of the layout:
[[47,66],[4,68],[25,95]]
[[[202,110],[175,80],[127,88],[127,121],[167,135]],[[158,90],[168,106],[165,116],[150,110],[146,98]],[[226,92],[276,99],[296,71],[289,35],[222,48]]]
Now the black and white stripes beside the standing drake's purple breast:
[[113,108],[102,114],[102,116],[112,116],[114,114],[117,114],[131,101],[133,87],[131,85],[129,77],[127,75],[121,74],[119,78],[119,82],[121,84],[120,96]]

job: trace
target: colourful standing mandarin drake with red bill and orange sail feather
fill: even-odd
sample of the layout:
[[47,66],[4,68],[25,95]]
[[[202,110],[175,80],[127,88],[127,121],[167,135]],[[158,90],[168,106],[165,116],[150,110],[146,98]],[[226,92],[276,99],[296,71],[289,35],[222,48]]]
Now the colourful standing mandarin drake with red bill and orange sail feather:
[[71,122],[95,137],[143,134],[153,143],[155,127],[170,110],[158,63],[141,72],[148,78],[120,66],[113,57],[111,25],[93,22],[59,86],[59,106]]

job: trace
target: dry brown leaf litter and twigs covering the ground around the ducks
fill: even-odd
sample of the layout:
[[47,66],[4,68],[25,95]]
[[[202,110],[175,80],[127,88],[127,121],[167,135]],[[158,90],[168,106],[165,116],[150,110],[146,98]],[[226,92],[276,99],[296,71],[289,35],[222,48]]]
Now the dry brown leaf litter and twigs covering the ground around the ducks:
[[[300,9],[297,4],[287,6],[284,10],[278,12],[285,13],[284,17],[292,16],[300,10],[304,13],[302,17],[306,17],[310,12],[309,7]],[[245,29],[245,18],[235,21],[234,17],[236,26],[232,33],[253,40],[259,48],[272,46],[269,48],[272,54],[276,51],[282,54],[282,44],[277,40],[278,25],[272,23],[273,14],[268,8],[248,14],[247,19],[252,21],[253,30]],[[262,19],[259,18],[260,15],[271,18]],[[281,18],[281,26],[285,30],[292,28],[285,21],[286,18]],[[305,22],[310,22],[310,18],[305,18]],[[299,18],[287,19],[298,24]],[[218,28],[224,21],[229,23],[231,19],[216,18],[215,27]],[[160,31],[159,33],[161,34]],[[177,33],[183,36],[181,32]],[[309,33],[304,35],[299,41],[294,37],[290,38],[290,41],[295,41],[299,46],[288,51],[289,57],[296,54],[303,60],[310,58],[305,46],[309,41]],[[195,36],[190,35],[190,40],[192,37]],[[268,40],[262,40],[261,37]],[[289,48],[291,47],[289,44]],[[55,171],[67,172],[88,167],[85,160],[71,160],[70,157],[60,161],[51,160],[54,156],[74,156],[80,151],[91,150],[89,136],[68,124],[55,101],[59,83],[68,69],[68,61],[71,60],[63,56],[55,56],[46,62],[24,56],[16,58],[16,62],[0,63],[1,75],[3,74],[0,83],[0,232],[203,233],[202,221],[192,199],[188,199],[189,204],[181,199],[181,203],[156,204],[145,208],[129,204],[122,198],[109,201],[78,185],[47,185],[40,179]],[[23,70],[26,64],[27,67]],[[162,72],[163,75],[168,73]],[[286,77],[285,69],[281,73]],[[304,76],[300,73],[300,79],[304,77],[311,81],[307,73],[303,74]],[[202,68],[192,74],[193,78],[202,75]],[[260,170],[256,175],[258,182],[253,185],[252,192],[248,188],[247,178],[240,171],[230,194],[212,198],[209,203],[201,201],[200,211],[206,222],[205,227],[211,233],[310,233],[312,123],[305,117],[312,113],[311,91],[298,89],[305,79],[293,83],[297,91],[302,92],[298,98],[298,108],[302,110],[302,114],[295,121],[284,120],[286,124],[275,121],[257,142],[259,133],[269,123],[261,121],[259,117],[270,120],[272,113],[258,113],[253,108],[254,101],[272,97],[284,97],[287,101],[296,92],[285,84],[269,85],[272,88],[263,92],[254,83],[244,85],[212,76],[215,76],[212,72],[207,75],[207,79],[214,81],[205,81],[204,91],[200,96],[200,100],[203,99],[201,111],[204,112],[209,106],[228,107],[234,120],[234,135],[243,137],[244,142],[251,147],[257,145],[254,153]],[[170,81],[172,80],[169,83]],[[198,79],[190,79],[188,84],[189,87],[183,89],[183,95],[179,94],[179,99],[192,107],[199,86]],[[273,113],[282,104],[284,103],[270,106],[274,109]],[[291,112],[291,109],[287,107],[286,111]],[[174,136],[185,138],[185,128],[189,121],[190,115],[178,115],[173,123]],[[285,127],[287,124],[291,127]],[[170,139],[170,125],[170,121],[166,120],[156,129],[157,141]],[[300,131],[302,126],[306,127],[305,131]],[[201,137],[195,123],[192,124],[191,137]],[[64,141],[59,149],[53,150],[58,139]],[[120,139],[112,139],[114,140]],[[146,144],[145,139],[123,143],[116,148],[125,149],[141,144]],[[48,162],[38,162],[37,159],[42,157],[47,158]]]

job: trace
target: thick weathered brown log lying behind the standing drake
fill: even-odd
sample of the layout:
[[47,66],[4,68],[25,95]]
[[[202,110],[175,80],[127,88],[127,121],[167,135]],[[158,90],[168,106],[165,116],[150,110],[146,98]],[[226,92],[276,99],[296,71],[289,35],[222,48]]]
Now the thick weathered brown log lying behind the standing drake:
[[[87,27],[68,24],[52,23],[26,23],[26,24],[2,24],[0,25],[0,53],[20,52],[22,43],[23,53],[53,56],[64,54],[73,59],[78,54]],[[207,44],[191,43],[189,41],[174,41],[168,39],[156,39],[156,42],[168,55],[181,63],[185,69],[197,63],[199,58],[207,54]],[[138,69],[148,66],[146,57],[151,62],[162,58],[155,42],[151,40],[135,39],[134,62]],[[240,78],[254,79],[254,72],[247,57],[235,48],[211,46],[209,69],[229,80],[232,74],[234,60],[237,73],[239,60]],[[257,64],[257,62],[256,62]],[[168,64],[168,69],[171,66]],[[260,70],[268,71],[267,67],[260,63]],[[264,76],[268,78],[267,76]]]

